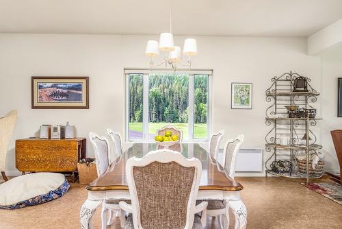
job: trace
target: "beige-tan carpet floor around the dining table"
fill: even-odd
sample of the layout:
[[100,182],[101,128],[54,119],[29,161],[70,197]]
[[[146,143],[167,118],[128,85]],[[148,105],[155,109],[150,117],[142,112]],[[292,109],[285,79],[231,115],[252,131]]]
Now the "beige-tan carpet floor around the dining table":
[[[237,180],[244,185],[241,196],[248,210],[247,228],[342,228],[342,206],[299,182],[282,178]],[[84,188],[71,184],[66,195],[52,202],[0,210],[0,228],[80,228],[79,209],[87,198]],[[100,210],[94,215],[94,228],[101,228]],[[108,228],[120,228],[118,219]],[[219,228],[218,219],[208,217],[207,228]]]

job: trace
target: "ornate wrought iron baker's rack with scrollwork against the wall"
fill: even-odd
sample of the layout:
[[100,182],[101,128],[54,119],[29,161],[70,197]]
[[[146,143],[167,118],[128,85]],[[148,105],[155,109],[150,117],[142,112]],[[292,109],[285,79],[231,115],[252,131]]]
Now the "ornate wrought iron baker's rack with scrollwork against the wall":
[[[316,144],[317,137],[312,131],[312,127],[317,124],[317,120],[321,118],[310,118],[308,113],[303,118],[289,118],[287,115],[288,105],[298,105],[301,108],[313,109],[311,104],[317,101],[319,93],[315,91],[309,84],[311,79],[306,78],[308,91],[294,92],[293,82],[297,77],[301,77],[298,73],[285,73],[280,76],[272,78],[272,85],[266,90],[266,101],[272,103],[266,109],[266,125],[271,126],[272,130],[265,136],[265,149],[266,152],[272,155],[266,160],[266,176],[271,174],[273,176],[283,176],[288,178],[305,178],[306,183],[309,178],[319,178],[321,174],[309,173],[309,160],[313,152],[321,149],[321,145]],[[289,136],[289,143],[284,145],[280,144],[280,136]],[[303,144],[302,138],[306,137]],[[310,140],[312,141],[310,142]],[[306,156],[306,169],[305,173],[298,170],[298,164],[295,156]],[[273,159],[273,160],[272,160]],[[291,172],[277,173],[272,171],[270,165],[276,160],[285,160],[291,162]]]

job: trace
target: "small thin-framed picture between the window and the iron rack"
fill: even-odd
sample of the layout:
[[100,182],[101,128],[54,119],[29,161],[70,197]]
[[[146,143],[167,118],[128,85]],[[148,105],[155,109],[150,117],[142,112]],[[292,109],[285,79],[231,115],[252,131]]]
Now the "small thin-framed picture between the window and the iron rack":
[[232,83],[232,109],[252,109],[252,83]]

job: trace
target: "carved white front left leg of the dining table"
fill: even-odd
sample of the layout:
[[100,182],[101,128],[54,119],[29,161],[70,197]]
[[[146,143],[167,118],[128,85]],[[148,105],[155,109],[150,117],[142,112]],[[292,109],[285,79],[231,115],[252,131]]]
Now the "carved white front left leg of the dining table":
[[92,215],[102,202],[103,200],[86,200],[84,202],[79,213],[82,229],[92,229]]

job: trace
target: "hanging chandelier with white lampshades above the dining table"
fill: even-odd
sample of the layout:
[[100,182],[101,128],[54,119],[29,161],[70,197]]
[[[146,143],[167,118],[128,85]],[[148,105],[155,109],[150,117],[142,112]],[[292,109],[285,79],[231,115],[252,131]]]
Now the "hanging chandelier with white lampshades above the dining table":
[[[159,55],[159,51],[165,52],[165,57],[163,62],[160,64],[155,64],[153,58]],[[158,67],[161,64],[168,64],[172,69],[176,69],[177,64],[189,67],[191,69],[192,59],[191,56],[197,54],[197,43],[194,38],[187,38],[184,40],[183,45],[183,55],[189,56],[187,64],[182,64],[181,61],[181,47],[174,45],[173,35],[172,35],[172,0],[170,0],[170,33],[162,33],[159,36],[159,43],[157,40],[148,40],[145,50],[146,56],[150,57],[150,68]]]

